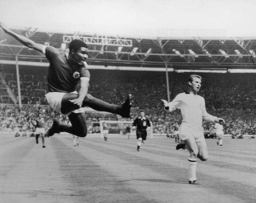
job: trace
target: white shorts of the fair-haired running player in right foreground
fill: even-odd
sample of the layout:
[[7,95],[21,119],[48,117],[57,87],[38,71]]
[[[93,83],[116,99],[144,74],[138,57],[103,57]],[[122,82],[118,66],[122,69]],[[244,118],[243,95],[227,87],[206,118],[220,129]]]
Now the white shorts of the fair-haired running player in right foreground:
[[196,142],[204,140],[204,128],[202,126],[197,126],[192,123],[182,122],[180,125],[180,139],[187,140],[188,137],[194,136]]

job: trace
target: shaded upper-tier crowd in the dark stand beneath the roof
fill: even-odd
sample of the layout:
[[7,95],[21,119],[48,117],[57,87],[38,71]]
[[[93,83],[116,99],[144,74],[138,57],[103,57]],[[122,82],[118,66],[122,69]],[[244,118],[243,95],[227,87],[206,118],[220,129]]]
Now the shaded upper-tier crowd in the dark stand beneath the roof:
[[[160,98],[167,98],[164,72],[90,70],[89,93],[109,103],[119,103],[127,92],[134,95],[134,106],[139,108],[159,108]],[[6,81],[17,93],[15,69],[3,68]],[[191,73],[169,73],[170,97],[186,90],[187,78]],[[47,105],[47,68],[22,67],[20,84],[22,104]],[[203,77],[200,90],[207,108],[214,109],[256,109],[256,83],[254,74],[200,73]],[[225,87],[225,88],[224,88]],[[1,87],[0,87],[1,88]]]

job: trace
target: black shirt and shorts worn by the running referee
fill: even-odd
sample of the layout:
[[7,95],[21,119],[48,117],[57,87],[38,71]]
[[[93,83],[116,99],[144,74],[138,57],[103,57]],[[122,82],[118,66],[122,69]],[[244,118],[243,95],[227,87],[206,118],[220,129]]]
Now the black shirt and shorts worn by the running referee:
[[150,122],[146,119],[145,116],[136,118],[132,124],[132,126],[136,126],[136,136],[137,139],[142,138],[142,140],[146,140],[147,138],[147,127],[151,127]]

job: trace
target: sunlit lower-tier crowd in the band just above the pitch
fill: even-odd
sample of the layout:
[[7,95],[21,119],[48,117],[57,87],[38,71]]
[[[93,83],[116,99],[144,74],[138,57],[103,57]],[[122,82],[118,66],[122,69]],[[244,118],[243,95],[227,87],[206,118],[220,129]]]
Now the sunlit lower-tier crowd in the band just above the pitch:
[[[153,133],[166,134],[172,131],[172,126],[175,121],[181,122],[179,110],[172,113],[165,112],[162,108],[159,109],[146,109],[144,110],[146,117],[153,123]],[[13,105],[0,106],[0,131],[12,132],[14,127],[19,127],[20,131],[33,132],[33,122],[38,113],[41,112],[45,118],[45,127],[49,129],[52,126],[52,119],[58,119],[60,122],[68,124],[69,120],[66,115],[53,112],[48,106],[41,105],[27,105],[19,108]],[[119,120],[132,121],[138,116],[139,109],[132,109],[132,116],[130,119],[119,118]],[[255,134],[256,131],[256,118],[255,110],[208,110],[212,115],[222,115],[226,120],[224,124],[225,134]],[[100,112],[86,112],[88,132],[98,133],[100,131],[100,120],[117,120],[118,117],[114,114],[100,113]],[[204,122],[203,127],[205,131],[214,131],[214,124],[211,122]],[[126,126],[125,126],[126,127]],[[125,130],[122,129],[123,131]],[[117,129],[113,127],[113,133]],[[111,131],[110,130],[110,131]]]

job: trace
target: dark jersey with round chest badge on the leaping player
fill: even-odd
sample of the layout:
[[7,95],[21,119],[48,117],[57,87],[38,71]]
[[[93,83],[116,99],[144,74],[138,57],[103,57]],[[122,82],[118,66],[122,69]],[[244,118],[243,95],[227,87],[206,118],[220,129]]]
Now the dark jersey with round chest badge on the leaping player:
[[48,70],[48,89],[50,92],[73,92],[80,77],[90,78],[85,65],[69,66],[66,53],[54,47],[46,47],[45,56],[50,62]]

